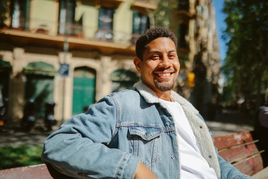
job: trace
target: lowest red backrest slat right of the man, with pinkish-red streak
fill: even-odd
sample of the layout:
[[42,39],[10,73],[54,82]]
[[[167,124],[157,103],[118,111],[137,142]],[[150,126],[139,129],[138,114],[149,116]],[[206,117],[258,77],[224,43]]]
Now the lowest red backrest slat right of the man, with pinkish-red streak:
[[[251,166],[249,163],[249,160],[252,159],[254,162],[254,167]],[[239,169],[240,172],[246,174],[246,175],[254,175],[255,173],[261,171],[263,169],[263,163],[261,159],[261,155],[255,155],[251,158],[248,158],[246,161],[241,161],[238,163],[233,164],[234,167]]]

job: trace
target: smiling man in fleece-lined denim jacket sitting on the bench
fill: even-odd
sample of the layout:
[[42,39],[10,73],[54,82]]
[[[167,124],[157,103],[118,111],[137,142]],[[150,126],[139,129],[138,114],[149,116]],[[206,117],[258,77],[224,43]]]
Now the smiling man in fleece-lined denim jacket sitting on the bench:
[[154,27],[138,38],[135,90],[112,93],[48,137],[42,159],[75,178],[250,178],[224,161],[199,112],[172,91],[177,38]]

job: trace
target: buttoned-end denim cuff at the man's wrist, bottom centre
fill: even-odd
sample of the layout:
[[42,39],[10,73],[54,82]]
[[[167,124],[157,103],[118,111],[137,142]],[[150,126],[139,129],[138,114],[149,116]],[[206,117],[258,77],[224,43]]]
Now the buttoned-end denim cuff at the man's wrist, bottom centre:
[[116,179],[134,179],[141,158],[126,153],[118,166]]

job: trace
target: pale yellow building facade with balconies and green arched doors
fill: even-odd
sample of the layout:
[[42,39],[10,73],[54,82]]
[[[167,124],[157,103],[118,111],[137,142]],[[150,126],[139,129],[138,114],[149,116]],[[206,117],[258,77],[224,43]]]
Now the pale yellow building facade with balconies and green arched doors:
[[[54,115],[61,121],[111,92],[133,88],[139,80],[133,64],[135,42],[154,25],[157,2],[5,0],[2,4],[0,64],[6,70],[0,70],[4,79],[0,86],[14,121],[23,117],[30,98],[35,98],[37,118],[43,118],[45,102],[54,100]],[[68,76],[58,73],[61,64],[69,65]]]

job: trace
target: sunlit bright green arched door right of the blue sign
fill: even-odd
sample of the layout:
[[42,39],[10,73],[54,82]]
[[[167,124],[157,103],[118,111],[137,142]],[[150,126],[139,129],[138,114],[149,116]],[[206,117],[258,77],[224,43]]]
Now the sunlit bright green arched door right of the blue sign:
[[96,72],[88,67],[74,69],[73,115],[85,112],[95,102]]

